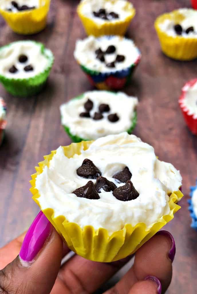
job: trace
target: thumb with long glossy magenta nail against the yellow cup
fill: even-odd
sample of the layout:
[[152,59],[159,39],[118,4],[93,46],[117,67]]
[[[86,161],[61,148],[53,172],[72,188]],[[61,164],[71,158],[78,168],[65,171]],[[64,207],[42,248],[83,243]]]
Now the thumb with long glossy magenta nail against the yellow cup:
[[60,269],[62,251],[60,236],[40,211],[19,255],[0,270],[0,294],[49,294]]

